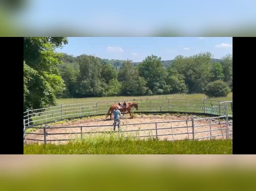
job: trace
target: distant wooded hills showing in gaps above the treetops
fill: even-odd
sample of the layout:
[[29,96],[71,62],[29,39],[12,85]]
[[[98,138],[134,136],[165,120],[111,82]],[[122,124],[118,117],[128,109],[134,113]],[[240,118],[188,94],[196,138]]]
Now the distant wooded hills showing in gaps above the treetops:
[[[63,64],[59,66],[60,71],[63,71],[66,69],[67,66],[71,66],[73,68],[79,69],[79,64],[78,64],[78,57],[74,57],[73,55],[68,55],[68,54],[64,54],[63,58],[61,59],[63,61]],[[124,63],[125,60],[108,60],[108,59],[102,59],[102,58],[98,58],[100,60],[100,62],[102,64],[112,64],[113,66],[115,66],[115,68],[118,70]],[[219,62],[222,63],[223,60],[221,59],[213,59],[214,62]],[[172,64],[173,60],[163,60],[161,61],[163,66],[165,68],[167,68],[170,64]],[[138,64],[140,64],[141,62],[134,62],[133,65],[137,66]]]

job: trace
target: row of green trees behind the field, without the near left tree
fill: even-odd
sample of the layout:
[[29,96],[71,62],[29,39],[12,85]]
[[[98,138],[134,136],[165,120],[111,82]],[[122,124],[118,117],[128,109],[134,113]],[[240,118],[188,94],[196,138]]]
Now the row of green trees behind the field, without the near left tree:
[[205,93],[207,85],[218,80],[233,88],[232,55],[221,62],[214,61],[210,52],[178,55],[167,67],[161,57],[151,55],[136,65],[131,60],[123,61],[119,69],[92,55],[73,59],[77,67],[66,64],[60,68],[66,84],[61,97]]

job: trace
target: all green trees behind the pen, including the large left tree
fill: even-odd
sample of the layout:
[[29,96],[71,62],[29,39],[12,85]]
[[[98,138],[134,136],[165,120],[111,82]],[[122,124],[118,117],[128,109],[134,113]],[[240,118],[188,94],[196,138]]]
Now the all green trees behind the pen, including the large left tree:
[[24,111],[55,105],[56,98],[205,93],[212,82],[233,89],[233,57],[210,52],[172,61],[147,56],[141,63],[56,53],[66,37],[24,37]]

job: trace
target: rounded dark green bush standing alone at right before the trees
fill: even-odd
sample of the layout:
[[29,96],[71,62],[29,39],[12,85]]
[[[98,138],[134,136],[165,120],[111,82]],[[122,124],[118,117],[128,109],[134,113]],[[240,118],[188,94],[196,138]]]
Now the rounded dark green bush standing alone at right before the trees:
[[217,80],[206,86],[205,95],[210,97],[226,97],[231,92],[227,83]]

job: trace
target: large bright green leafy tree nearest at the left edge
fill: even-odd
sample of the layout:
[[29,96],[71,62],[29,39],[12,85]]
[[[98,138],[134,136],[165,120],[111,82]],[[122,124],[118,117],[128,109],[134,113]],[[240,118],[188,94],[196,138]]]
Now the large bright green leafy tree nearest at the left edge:
[[23,110],[56,105],[65,85],[57,65],[61,53],[55,48],[68,44],[66,37],[24,37]]

